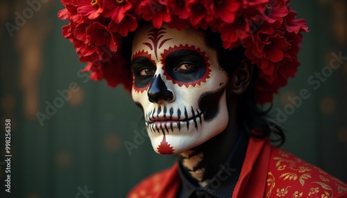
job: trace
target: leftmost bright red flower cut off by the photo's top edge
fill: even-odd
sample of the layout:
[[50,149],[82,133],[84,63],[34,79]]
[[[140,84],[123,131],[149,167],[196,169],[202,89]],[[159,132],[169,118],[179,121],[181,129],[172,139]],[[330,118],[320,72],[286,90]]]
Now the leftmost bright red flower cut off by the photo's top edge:
[[103,0],[78,0],[77,12],[88,19],[96,19],[103,12]]

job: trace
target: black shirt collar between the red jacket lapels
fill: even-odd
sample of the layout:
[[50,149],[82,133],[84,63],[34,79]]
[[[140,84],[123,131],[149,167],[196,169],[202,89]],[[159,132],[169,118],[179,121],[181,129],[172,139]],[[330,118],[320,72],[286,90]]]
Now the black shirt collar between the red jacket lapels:
[[246,132],[239,132],[237,141],[232,147],[226,162],[220,165],[221,170],[208,182],[205,187],[198,184],[187,176],[183,170],[183,165],[178,163],[178,173],[182,184],[180,186],[179,198],[191,197],[218,197],[230,198],[234,191],[239,174],[244,163],[249,136]]

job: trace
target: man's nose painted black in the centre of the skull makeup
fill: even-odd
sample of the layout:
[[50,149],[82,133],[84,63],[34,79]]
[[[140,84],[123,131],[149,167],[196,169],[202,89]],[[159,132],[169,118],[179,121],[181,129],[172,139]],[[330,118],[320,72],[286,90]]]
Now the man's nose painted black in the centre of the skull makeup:
[[153,79],[147,96],[149,96],[149,102],[155,103],[158,103],[160,100],[171,101],[174,99],[174,93],[167,90],[167,86],[165,85],[164,81],[162,81],[160,74],[155,76]]

